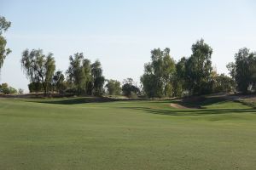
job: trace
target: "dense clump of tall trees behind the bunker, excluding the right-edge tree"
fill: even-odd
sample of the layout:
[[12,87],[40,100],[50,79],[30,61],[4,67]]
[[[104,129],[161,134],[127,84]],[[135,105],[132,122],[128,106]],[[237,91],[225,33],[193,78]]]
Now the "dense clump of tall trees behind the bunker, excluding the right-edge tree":
[[234,90],[234,80],[212,69],[212,48],[200,40],[192,45],[189,58],[175,62],[170,49],[151,51],[151,62],[144,66],[141,77],[148,97],[181,97]]

